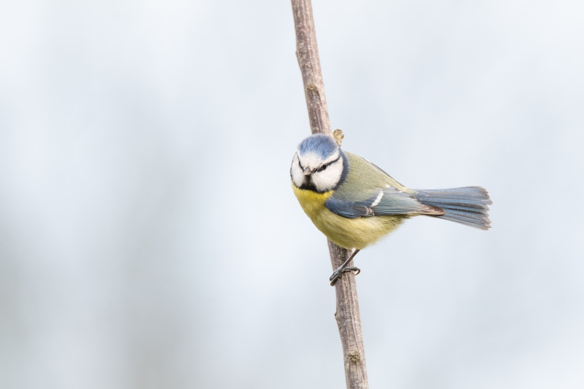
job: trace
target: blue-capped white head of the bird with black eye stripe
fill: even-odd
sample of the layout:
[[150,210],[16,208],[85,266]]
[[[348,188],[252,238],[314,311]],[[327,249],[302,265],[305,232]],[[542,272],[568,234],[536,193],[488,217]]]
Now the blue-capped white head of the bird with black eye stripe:
[[315,134],[298,145],[292,159],[290,177],[300,189],[323,193],[341,184],[347,169],[347,157],[335,139]]

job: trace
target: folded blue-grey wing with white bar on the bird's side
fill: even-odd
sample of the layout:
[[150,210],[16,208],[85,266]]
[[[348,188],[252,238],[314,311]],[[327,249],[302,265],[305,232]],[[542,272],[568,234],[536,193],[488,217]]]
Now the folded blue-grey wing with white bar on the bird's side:
[[422,204],[394,187],[378,188],[364,201],[352,201],[333,194],[325,202],[325,206],[329,211],[348,219],[383,215],[444,215],[442,209]]

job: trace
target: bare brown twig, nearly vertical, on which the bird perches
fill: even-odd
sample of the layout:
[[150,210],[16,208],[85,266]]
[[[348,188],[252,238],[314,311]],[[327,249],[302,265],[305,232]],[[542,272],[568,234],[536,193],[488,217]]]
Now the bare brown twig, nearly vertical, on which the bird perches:
[[[296,27],[296,55],[304,82],[311,131],[312,134],[319,132],[331,135],[321,64],[318,59],[317,36],[314,29],[314,19],[312,19],[312,5],[310,0],[291,1],[294,26]],[[330,240],[328,247],[333,269],[338,268],[349,258],[349,250],[336,246]],[[343,345],[347,388],[366,389],[369,384],[367,383],[367,369],[365,367],[357,286],[352,272],[343,274],[335,283],[335,291],[335,317]]]

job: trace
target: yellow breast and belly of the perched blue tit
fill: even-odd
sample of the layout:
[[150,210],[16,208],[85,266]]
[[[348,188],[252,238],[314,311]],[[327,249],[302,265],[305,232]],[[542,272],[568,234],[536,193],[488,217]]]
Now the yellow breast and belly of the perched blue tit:
[[326,200],[332,196],[332,191],[317,193],[299,189],[294,183],[292,188],[300,206],[312,223],[340,247],[361,250],[390,233],[408,218],[405,215],[343,218],[329,211],[325,206]]

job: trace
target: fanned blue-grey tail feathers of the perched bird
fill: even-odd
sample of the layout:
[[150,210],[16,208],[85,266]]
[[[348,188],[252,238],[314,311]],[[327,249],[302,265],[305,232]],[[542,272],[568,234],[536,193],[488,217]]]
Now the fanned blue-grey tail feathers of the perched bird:
[[434,217],[451,220],[466,226],[487,230],[491,228],[489,205],[493,204],[485,188],[418,189],[416,199],[426,205],[443,209],[444,215]]

